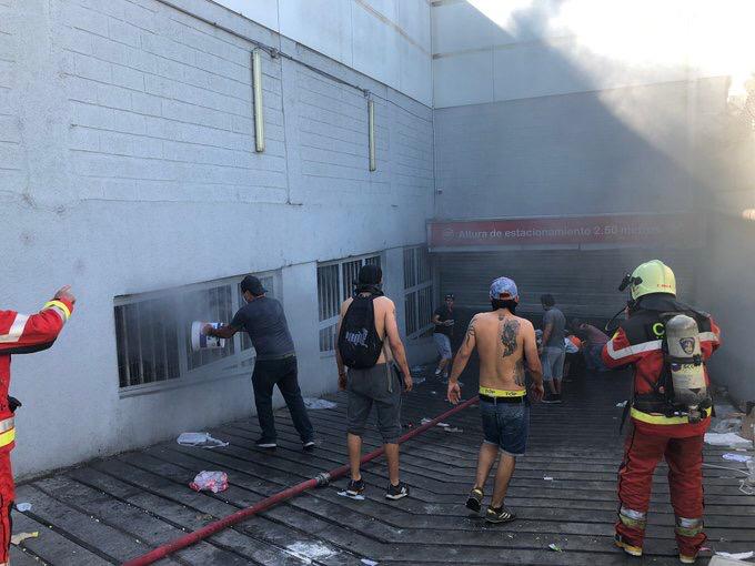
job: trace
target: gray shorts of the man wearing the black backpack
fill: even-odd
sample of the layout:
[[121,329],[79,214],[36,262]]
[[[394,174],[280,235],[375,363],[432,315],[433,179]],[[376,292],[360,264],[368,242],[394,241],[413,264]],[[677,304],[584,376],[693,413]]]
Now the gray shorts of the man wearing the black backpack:
[[[389,391],[391,390],[391,391]],[[401,436],[401,382],[385,364],[366,370],[349,370],[346,392],[348,431],[364,435],[364,425],[374,405],[378,410],[378,429],[384,444],[395,444]]]

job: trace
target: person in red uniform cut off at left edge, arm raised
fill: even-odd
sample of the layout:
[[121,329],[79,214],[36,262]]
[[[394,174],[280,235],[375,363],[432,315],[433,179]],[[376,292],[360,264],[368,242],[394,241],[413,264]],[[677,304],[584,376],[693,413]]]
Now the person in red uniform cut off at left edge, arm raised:
[[8,395],[10,358],[14,354],[31,354],[50,347],[71,316],[73,303],[76,297],[66,286],[37,314],[0,310],[0,566],[9,560],[14,496],[10,451],[16,439],[13,411],[19,405]]

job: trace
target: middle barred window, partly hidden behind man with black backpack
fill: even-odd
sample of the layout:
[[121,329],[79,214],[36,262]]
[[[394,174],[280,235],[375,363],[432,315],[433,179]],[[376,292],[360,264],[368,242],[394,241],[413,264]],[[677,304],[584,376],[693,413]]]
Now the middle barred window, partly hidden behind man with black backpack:
[[320,314],[320,352],[335,351],[341,303],[353,295],[362,265],[380,265],[380,255],[348,257],[318,265],[318,310]]

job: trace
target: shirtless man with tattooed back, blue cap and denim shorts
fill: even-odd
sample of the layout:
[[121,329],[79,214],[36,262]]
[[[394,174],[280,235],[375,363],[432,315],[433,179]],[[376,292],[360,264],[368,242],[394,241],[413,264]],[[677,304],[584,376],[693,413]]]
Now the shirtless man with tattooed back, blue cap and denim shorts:
[[491,285],[490,296],[493,312],[479,313],[472,319],[456,354],[449,378],[449,401],[454,405],[459,403],[459,376],[476,346],[480,354],[480,413],[485,439],[480,447],[477,476],[466,507],[480,513],[485,481],[500,451],[501,462],[485,520],[507,523],[516,516],[503,506],[503,499],[514,474],[516,456],[524,454],[530,427],[524,362],[533,378],[532,396],[537,401],[544,394],[543,370],[537,355],[535,329],[530,321],[514,315],[519,303],[516,284],[507,277],[499,277]]

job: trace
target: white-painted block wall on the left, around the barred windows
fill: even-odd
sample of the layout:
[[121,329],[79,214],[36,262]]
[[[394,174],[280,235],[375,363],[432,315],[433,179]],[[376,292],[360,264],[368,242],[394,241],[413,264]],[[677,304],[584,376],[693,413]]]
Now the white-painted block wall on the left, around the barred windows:
[[[252,44],[157,0],[0,0],[0,304],[71,283],[73,319],[13,358],[17,473],[244,417],[249,375],[121,398],[113,297],[281,270],[305,394],[333,391],[316,343],[316,262],[424,242],[432,111],[204,0],[181,1],[264,57],[266,151],[253,151]],[[401,275],[395,275],[401,276]]]

